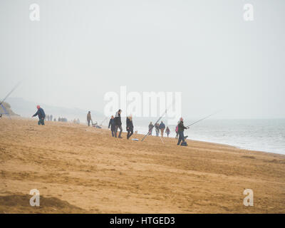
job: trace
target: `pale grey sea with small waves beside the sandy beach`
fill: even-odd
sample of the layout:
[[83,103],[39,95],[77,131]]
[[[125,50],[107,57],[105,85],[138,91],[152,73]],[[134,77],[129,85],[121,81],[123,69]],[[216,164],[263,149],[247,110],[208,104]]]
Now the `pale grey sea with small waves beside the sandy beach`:
[[[185,121],[185,125],[192,122],[195,120]],[[136,125],[135,120],[133,123],[138,133],[147,133],[148,124],[139,123]],[[169,125],[170,137],[175,137],[175,127],[175,125]],[[152,135],[155,135],[155,129],[153,129]],[[217,142],[247,150],[285,155],[285,119],[208,119],[192,125],[190,129],[185,130],[185,135],[188,135],[188,139],[191,140]]]

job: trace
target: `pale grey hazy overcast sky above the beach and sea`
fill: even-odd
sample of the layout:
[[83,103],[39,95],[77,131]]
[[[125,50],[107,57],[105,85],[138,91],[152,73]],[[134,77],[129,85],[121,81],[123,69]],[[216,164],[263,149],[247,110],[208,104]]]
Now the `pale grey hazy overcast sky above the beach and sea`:
[[103,112],[127,86],[182,92],[190,118],[285,118],[284,66],[284,0],[0,1],[0,98],[22,81],[12,97]]

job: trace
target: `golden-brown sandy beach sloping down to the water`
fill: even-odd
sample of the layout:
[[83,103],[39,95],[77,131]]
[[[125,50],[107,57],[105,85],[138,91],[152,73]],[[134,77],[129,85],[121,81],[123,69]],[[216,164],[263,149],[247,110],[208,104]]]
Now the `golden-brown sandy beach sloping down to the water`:
[[[285,156],[0,119],[0,213],[284,213]],[[137,135],[141,139],[142,135]],[[31,189],[41,206],[31,207]],[[254,207],[243,204],[254,191]]]

